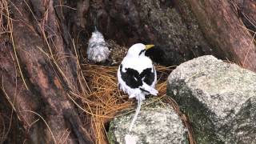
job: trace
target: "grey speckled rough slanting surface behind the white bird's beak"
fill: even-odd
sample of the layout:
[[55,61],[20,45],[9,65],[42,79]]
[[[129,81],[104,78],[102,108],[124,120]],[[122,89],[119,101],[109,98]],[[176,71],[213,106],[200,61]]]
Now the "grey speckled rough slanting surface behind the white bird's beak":
[[199,55],[214,54],[186,1],[140,0],[135,5],[143,22],[139,28],[146,30],[142,38],[149,36],[157,47],[152,49],[154,61],[170,66]]

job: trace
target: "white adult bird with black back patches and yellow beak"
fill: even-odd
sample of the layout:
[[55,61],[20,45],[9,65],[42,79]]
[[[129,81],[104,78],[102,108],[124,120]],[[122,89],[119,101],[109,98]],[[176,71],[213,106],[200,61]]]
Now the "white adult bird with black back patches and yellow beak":
[[129,98],[144,100],[145,95],[157,95],[154,89],[157,73],[150,58],[145,52],[154,45],[134,44],[128,50],[118,68],[118,88],[129,95]]

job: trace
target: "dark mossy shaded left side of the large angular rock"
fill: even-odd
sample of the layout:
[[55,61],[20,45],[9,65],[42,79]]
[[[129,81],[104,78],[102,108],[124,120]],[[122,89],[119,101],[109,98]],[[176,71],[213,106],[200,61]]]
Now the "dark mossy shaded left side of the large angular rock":
[[[189,117],[196,142],[217,144],[224,143],[221,141],[221,138],[219,138],[218,135],[216,135],[215,133],[214,123],[209,117],[209,115],[211,114],[204,113],[205,111],[208,111],[206,109],[206,106],[198,105],[198,103],[200,103],[198,102],[198,99],[195,99],[192,96],[188,96],[192,95],[192,92],[188,91],[188,88],[184,86],[179,86],[179,88],[177,87],[177,94],[173,93],[174,89],[174,87],[170,88],[170,86],[168,85],[167,95],[169,95],[171,98],[174,98],[174,100],[178,103],[178,106],[180,106],[182,112]],[[186,100],[184,101],[184,99]]]

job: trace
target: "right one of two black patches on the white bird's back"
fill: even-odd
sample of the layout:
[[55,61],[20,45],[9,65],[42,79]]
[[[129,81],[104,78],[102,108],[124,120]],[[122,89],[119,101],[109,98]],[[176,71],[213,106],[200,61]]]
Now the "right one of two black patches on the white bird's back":
[[[153,69],[153,72],[152,72]],[[143,82],[146,82],[149,86],[154,82],[154,68],[147,68],[142,71],[141,74],[139,74],[140,79],[143,80]]]

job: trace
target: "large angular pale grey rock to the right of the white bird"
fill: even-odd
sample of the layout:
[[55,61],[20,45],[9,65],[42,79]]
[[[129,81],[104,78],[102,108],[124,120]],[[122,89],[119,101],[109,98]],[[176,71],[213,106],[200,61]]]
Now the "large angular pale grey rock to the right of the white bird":
[[188,114],[198,143],[256,143],[256,74],[202,56],[169,76],[167,94]]

